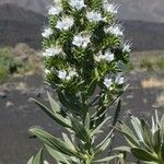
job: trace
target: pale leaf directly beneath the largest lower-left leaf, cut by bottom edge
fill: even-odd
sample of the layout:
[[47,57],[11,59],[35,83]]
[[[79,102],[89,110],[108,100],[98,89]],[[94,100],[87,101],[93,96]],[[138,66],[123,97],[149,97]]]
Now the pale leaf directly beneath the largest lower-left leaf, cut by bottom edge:
[[70,157],[56,151],[55,149],[50,148],[49,145],[45,144],[47,151],[49,152],[49,154],[59,163],[63,163],[63,164],[70,164]]

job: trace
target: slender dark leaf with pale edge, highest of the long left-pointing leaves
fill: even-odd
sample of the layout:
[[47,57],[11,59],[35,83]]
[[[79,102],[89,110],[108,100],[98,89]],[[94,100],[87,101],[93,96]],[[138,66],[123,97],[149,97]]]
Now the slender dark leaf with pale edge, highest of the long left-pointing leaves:
[[34,101],[34,103],[36,103],[51,119],[57,121],[59,125],[67,127],[67,128],[71,128],[70,121],[67,118],[63,118],[57,114],[54,114],[48,107],[37,102],[36,99],[32,98],[32,101]]

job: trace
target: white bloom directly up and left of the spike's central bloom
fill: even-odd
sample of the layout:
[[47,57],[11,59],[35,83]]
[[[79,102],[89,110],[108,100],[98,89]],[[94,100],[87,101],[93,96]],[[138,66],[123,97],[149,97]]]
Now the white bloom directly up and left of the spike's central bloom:
[[56,27],[60,31],[68,31],[72,25],[74,24],[74,20],[73,17],[70,16],[65,16],[61,19],[61,21],[59,20],[56,24]]

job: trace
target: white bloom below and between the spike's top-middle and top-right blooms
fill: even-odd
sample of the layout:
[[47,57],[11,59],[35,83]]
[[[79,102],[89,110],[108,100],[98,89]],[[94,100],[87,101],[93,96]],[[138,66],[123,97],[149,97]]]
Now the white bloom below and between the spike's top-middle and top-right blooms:
[[97,11],[86,12],[86,17],[90,22],[99,22],[104,20],[102,14]]

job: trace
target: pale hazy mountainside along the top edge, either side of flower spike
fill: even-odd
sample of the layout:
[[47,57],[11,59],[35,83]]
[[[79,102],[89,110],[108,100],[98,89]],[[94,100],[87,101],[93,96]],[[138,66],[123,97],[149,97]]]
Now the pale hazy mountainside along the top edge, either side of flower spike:
[[[52,0],[0,0],[0,4],[9,3],[46,13],[46,8]],[[109,0],[120,4],[119,17],[122,20],[142,20],[149,22],[164,22],[164,0]]]

